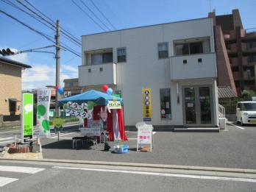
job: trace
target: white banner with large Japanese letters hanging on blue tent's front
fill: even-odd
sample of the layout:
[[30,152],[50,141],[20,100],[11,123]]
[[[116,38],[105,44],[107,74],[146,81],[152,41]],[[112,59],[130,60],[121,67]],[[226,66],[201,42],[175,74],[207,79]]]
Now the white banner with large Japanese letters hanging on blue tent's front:
[[69,115],[73,115],[77,118],[92,118],[93,106],[95,105],[94,102],[88,102],[77,104],[76,102],[68,102],[65,104],[65,113]]

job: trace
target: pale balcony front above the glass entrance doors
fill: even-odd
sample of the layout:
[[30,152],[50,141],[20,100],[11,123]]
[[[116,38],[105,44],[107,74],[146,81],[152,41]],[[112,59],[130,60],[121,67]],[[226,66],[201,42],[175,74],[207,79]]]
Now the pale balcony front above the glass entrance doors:
[[191,54],[171,57],[171,80],[216,78],[216,54]]

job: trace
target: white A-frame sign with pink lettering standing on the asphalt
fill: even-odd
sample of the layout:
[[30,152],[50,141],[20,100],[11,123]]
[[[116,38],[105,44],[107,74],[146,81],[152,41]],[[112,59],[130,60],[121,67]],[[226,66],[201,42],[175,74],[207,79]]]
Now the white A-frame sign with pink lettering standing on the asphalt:
[[136,124],[138,129],[138,137],[137,137],[137,151],[142,146],[148,146],[149,151],[152,152],[152,124],[145,124],[145,122],[140,122]]

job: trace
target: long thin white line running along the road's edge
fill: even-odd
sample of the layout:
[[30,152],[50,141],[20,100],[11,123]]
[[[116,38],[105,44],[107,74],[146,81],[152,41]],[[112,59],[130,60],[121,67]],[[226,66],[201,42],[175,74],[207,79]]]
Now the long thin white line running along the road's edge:
[[104,168],[79,168],[79,167],[63,167],[63,166],[54,166],[52,168],[84,170],[84,171],[102,171],[102,172],[123,173],[123,174],[146,174],[146,175],[164,176],[164,177],[184,177],[184,178],[191,178],[191,179],[216,179],[216,180],[226,180],[226,181],[256,182],[256,179],[247,179],[247,178],[239,178],[239,177],[213,177],[213,176],[193,175],[193,174],[164,174],[164,173],[144,172],[144,171],[125,171],[125,170],[104,169]]

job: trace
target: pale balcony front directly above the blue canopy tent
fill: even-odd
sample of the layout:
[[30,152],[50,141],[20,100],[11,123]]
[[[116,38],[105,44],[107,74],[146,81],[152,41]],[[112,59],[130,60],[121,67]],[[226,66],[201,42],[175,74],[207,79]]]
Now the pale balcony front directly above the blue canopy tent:
[[116,64],[104,63],[100,65],[79,66],[79,86],[116,85]]

